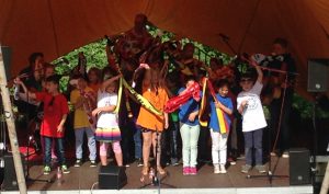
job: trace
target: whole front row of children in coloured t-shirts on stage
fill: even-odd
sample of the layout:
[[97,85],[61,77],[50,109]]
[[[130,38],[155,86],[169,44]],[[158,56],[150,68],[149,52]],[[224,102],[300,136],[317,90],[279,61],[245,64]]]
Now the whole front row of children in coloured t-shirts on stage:
[[[46,68],[47,69],[47,68]],[[242,132],[245,136],[246,164],[241,172],[248,173],[256,164],[256,169],[263,173],[265,168],[262,161],[262,132],[266,126],[260,92],[262,90],[262,70],[256,66],[258,78],[254,81],[251,75],[241,75],[239,84],[242,91],[237,99],[229,96],[229,82],[226,80],[215,81],[216,94],[209,98],[211,113],[208,128],[212,138],[212,160],[214,173],[226,173],[227,162],[227,139],[229,130],[220,132],[217,110],[220,110],[226,122],[226,127],[230,128],[230,115],[237,101],[237,110],[242,116]],[[158,111],[163,112],[164,105],[169,100],[169,89],[166,82],[159,77],[160,70],[145,67],[141,82],[141,95]],[[70,103],[73,105],[73,128],[76,136],[76,163],[75,167],[82,164],[82,144],[83,136],[87,135],[90,167],[97,167],[97,141],[100,141],[99,157],[102,166],[107,164],[107,148],[111,142],[117,166],[123,166],[123,150],[121,148],[121,128],[117,114],[117,87],[122,75],[113,76],[103,72],[103,80],[98,81],[99,73],[95,69],[90,69],[88,80],[83,76],[72,78],[76,82],[70,92]],[[59,92],[59,79],[56,75],[50,75],[44,80],[44,89],[37,92],[29,91],[20,78],[15,79],[15,84],[22,85],[24,92],[21,98],[29,96],[44,104],[44,117],[41,125],[41,136],[43,137],[44,148],[44,174],[50,172],[50,160],[53,141],[56,144],[56,156],[64,173],[69,173],[65,159],[64,147],[64,124],[69,114],[68,102],[64,94]],[[185,77],[185,84],[179,89],[177,95],[184,93],[191,85],[197,83],[194,77]],[[198,83],[197,83],[198,84]],[[201,83],[200,83],[201,84]],[[200,92],[200,95],[204,93]],[[201,98],[200,96],[200,98]],[[27,99],[29,99],[27,98]],[[188,102],[179,107],[179,128],[182,139],[182,161],[183,174],[197,174],[197,141],[200,136],[200,102],[190,98]],[[169,128],[172,123],[169,114],[155,114],[147,107],[141,106],[136,119],[136,125],[140,127],[143,137],[143,170],[144,175],[150,170],[149,158],[152,153],[157,157],[156,166],[160,174],[164,174],[161,161],[161,134]],[[54,139],[54,140],[53,140]],[[156,150],[158,148],[158,150]],[[254,148],[254,162],[252,161]]]

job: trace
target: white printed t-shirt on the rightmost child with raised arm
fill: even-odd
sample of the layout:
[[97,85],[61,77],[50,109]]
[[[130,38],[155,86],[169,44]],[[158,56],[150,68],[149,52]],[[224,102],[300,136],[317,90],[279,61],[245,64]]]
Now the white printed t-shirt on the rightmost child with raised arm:
[[239,109],[241,102],[247,100],[248,106],[242,113],[242,132],[251,132],[268,126],[263,106],[260,100],[260,93],[263,84],[256,81],[252,89],[248,92],[240,92],[237,98],[237,107]]

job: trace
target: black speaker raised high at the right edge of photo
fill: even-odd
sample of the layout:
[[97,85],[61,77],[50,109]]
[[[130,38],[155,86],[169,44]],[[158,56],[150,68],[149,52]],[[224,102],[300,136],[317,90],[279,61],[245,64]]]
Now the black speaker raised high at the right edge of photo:
[[309,59],[307,66],[307,91],[327,92],[329,87],[329,59]]

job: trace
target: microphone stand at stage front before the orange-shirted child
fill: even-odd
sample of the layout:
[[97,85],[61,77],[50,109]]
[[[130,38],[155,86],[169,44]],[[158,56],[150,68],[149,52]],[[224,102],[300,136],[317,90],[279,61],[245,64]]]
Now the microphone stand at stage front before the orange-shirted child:
[[[166,185],[166,186],[168,186],[168,187],[171,187],[171,189],[175,189],[175,186],[173,186],[173,185],[171,185],[171,184],[167,184],[167,183],[161,183],[161,181],[167,176],[164,176],[163,179],[161,179],[160,176],[159,176],[159,174],[158,174],[158,170],[157,170],[157,161],[158,161],[158,155],[159,155],[159,152],[158,152],[158,149],[159,149],[159,130],[158,130],[158,127],[156,126],[156,136],[157,136],[157,138],[156,138],[156,156],[155,156],[155,160],[156,160],[156,162],[155,162],[155,168],[154,168],[154,172],[155,172],[155,174],[149,174],[149,178],[151,179],[151,182],[150,183],[148,183],[148,184],[145,184],[145,185],[143,185],[143,186],[140,186],[139,189],[144,189],[144,187],[147,187],[147,186],[157,186],[158,187],[158,193],[160,194],[160,189],[161,189],[161,184],[162,185]],[[150,172],[151,172],[151,168],[150,168]],[[168,173],[168,172],[167,172]],[[141,179],[140,179],[141,180]]]

